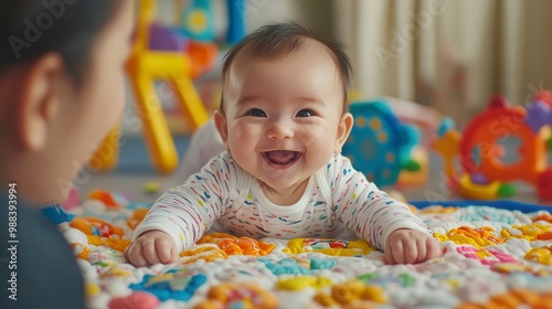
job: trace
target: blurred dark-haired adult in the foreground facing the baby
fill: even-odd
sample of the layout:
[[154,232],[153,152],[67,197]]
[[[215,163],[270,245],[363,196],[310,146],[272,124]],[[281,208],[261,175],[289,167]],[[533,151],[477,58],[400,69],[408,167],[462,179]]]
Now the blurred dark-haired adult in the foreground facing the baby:
[[[132,0],[0,4],[0,308],[84,308],[61,204],[124,107]],[[8,248],[7,248],[8,247]]]

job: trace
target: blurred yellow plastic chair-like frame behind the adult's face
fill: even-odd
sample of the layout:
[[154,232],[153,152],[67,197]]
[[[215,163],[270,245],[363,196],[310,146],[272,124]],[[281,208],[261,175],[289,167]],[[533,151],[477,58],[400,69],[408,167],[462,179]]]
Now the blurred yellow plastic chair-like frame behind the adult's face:
[[[153,82],[162,79],[176,90],[180,110],[192,129],[205,122],[209,115],[192,83],[194,68],[190,56],[181,51],[149,50],[149,29],[157,14],[157,1],[140,0],[139,9],[136,42],[126,68],[152,164],[160,172],[171,172],[178,166],[179,157]],[[118,143],[114,145],[114,140],[118,140],[118,127],[112,130],[91,159],[94,169],[107,170],[116,166]]]

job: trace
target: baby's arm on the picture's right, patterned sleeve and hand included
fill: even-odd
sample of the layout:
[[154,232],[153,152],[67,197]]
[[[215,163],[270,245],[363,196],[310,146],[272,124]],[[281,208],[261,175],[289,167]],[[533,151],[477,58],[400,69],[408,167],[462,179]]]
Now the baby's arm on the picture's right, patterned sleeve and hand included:
[[338,159],[333,168],[338,215],[348,230],[383,251],[385,263],[421,263],[442,255],[438,242],[406,204],[367,181],[348,159]]

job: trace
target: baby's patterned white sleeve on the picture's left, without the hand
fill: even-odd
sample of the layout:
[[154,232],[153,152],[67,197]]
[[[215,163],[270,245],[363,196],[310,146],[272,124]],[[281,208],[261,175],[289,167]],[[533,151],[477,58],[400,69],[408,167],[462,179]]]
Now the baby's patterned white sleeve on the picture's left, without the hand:
[[173,238],[178,252],[191,247],[240,192],[241,174],[230,153],[221,153],[184,184],[163,193],[136,228],[135,239],[158,230]]

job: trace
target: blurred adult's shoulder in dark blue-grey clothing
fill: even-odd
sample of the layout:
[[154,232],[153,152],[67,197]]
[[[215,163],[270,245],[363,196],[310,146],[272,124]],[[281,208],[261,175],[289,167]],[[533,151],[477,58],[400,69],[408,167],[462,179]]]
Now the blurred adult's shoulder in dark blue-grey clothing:
[[[8,205],[8,196],[0,196],[0,201]],[[1,221],[8,223],[2,224],[0,239],[10,249],[0,253],[0,262],[7,263],[1,268],[10,269],[1,271],[0,307],[84,308],[84,281],[70,244],[39,210],[20,199],[14,206],[11,212],[8,206],[0,211]],[[9,283],[11,277],[15,277],[15,285]],[[6,297],[11,287],[15,287],[17,301]]]

